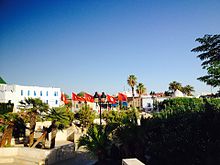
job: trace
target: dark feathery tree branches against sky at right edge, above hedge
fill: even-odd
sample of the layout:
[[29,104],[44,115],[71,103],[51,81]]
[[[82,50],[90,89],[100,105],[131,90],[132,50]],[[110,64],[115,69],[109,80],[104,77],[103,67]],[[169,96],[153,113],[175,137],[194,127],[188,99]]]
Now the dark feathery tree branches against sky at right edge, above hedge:
[[213,87],[220,86],[220,35],[204,35],[197,38],[201,45],[193,48],[192,52],[199,52],[197,57],[202,61],[202,68],[207,70],[207,75],[199,77],[198,80]]

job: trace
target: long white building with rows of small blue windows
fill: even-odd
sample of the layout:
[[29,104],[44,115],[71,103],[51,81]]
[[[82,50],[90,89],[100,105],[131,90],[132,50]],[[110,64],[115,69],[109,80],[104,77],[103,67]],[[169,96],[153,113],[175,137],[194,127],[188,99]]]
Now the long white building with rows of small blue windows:
[[14,103],[14,112],[18,110],[19,102],[29,97],[39,98],[50,107],[59,107],[61,90],[53,87],[0,84],[0,102],[7,103],[10,100]]

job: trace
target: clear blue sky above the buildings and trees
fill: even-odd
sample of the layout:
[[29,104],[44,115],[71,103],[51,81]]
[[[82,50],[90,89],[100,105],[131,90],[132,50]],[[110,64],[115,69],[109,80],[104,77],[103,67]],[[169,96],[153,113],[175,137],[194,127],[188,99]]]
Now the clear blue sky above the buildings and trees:
[[219,0],[0,0],[0,76],[69,95],[127,90],[130,74],[148,93],[210,92],[191,49],[219,30]]

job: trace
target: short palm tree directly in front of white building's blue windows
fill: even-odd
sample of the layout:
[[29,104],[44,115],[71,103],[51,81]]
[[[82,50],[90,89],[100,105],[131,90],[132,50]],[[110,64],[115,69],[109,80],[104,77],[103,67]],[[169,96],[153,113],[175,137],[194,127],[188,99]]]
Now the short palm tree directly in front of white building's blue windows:
[[49,109],[48,104],[43,103],[39,98],[28,98],[25,99],[25,102],[20,102],[20,109],[29,117],[30,122],[30,136],[29,136],[29,147],[31,147],[34,143],[34,131],[36,126],[37,117],[40,116],[43,112],[47,112]]

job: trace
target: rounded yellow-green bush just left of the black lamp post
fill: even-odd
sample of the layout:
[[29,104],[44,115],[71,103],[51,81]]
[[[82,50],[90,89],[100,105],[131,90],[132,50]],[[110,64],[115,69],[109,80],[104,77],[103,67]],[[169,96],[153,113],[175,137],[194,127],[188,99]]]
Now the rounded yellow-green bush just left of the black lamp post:
[[96,117],[96,113],[88,105],[84,105],[76,114],[76,119],[80,121],[83,127],[89,127]]

